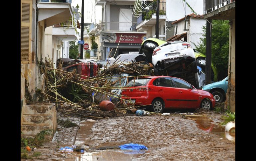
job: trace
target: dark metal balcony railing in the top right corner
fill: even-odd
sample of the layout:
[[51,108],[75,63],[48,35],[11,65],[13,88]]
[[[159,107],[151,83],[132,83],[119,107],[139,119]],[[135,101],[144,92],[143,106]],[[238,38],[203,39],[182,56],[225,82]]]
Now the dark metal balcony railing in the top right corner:
[[203,14],[212,12],[232,2],[235,2],[235,0],[204,0],[205,8]]

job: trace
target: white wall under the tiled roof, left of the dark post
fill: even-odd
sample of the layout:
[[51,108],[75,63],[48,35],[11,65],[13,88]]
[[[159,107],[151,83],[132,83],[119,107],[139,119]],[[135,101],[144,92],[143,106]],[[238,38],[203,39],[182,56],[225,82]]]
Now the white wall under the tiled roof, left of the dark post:
[[195,45],[198,45],[200,42],[200,38],[203,38],[203,31],[202,27],[206,26],[206,20],[204,19],[190,19],[190,40],[188,39],[189,43],[191,44],[192,48],[195,48]]

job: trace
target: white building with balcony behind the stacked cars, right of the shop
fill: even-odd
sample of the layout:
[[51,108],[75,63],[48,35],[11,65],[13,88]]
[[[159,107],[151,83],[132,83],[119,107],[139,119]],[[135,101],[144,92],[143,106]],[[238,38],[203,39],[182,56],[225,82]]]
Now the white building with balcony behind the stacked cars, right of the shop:
[[[203,14],[203,0],[187,0],[187,3],[192,7],[196,14]],[[143,7],[145,6],[142,5],[140,7],[140,9],[143,10]],[[183,0],[160,0],[160,10],[166,12],[165,15],[159,16],[159,39],[161,40],[166,40],[175,35],[174,26],[172,25],[174,21],[181,19],[185,14],[189,15],[193,13],[190,7],[185,4]],[[155,14],[153,14],[149,20],[144,20],[143,17],[144,15],[138,17],[138,24],[136,26],[137,30],[146,31],[147,38],[155,38]]]

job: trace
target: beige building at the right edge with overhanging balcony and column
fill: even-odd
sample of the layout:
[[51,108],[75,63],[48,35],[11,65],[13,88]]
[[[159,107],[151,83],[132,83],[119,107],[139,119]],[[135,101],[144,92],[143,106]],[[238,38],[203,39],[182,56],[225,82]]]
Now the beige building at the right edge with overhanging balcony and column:
[[235,0],[220,0],[218,3],[213,3],[213,1],[204,0],[204,19],[229,20],[229,78],[226,107],[230,108],[232,112],[235,112]]

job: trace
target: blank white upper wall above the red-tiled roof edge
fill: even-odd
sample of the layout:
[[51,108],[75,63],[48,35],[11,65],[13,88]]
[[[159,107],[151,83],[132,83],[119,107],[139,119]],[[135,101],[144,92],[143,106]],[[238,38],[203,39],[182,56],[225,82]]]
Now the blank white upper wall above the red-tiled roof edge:
[[[187,3],[192,7],[196,14],[203,14],[203,0],[187,0]],[[186,15],[192,14],[189,6],[187,4],[186,6],[183,0],[166,0],[166,21],[175,21],[185,17],[185,7]]]

